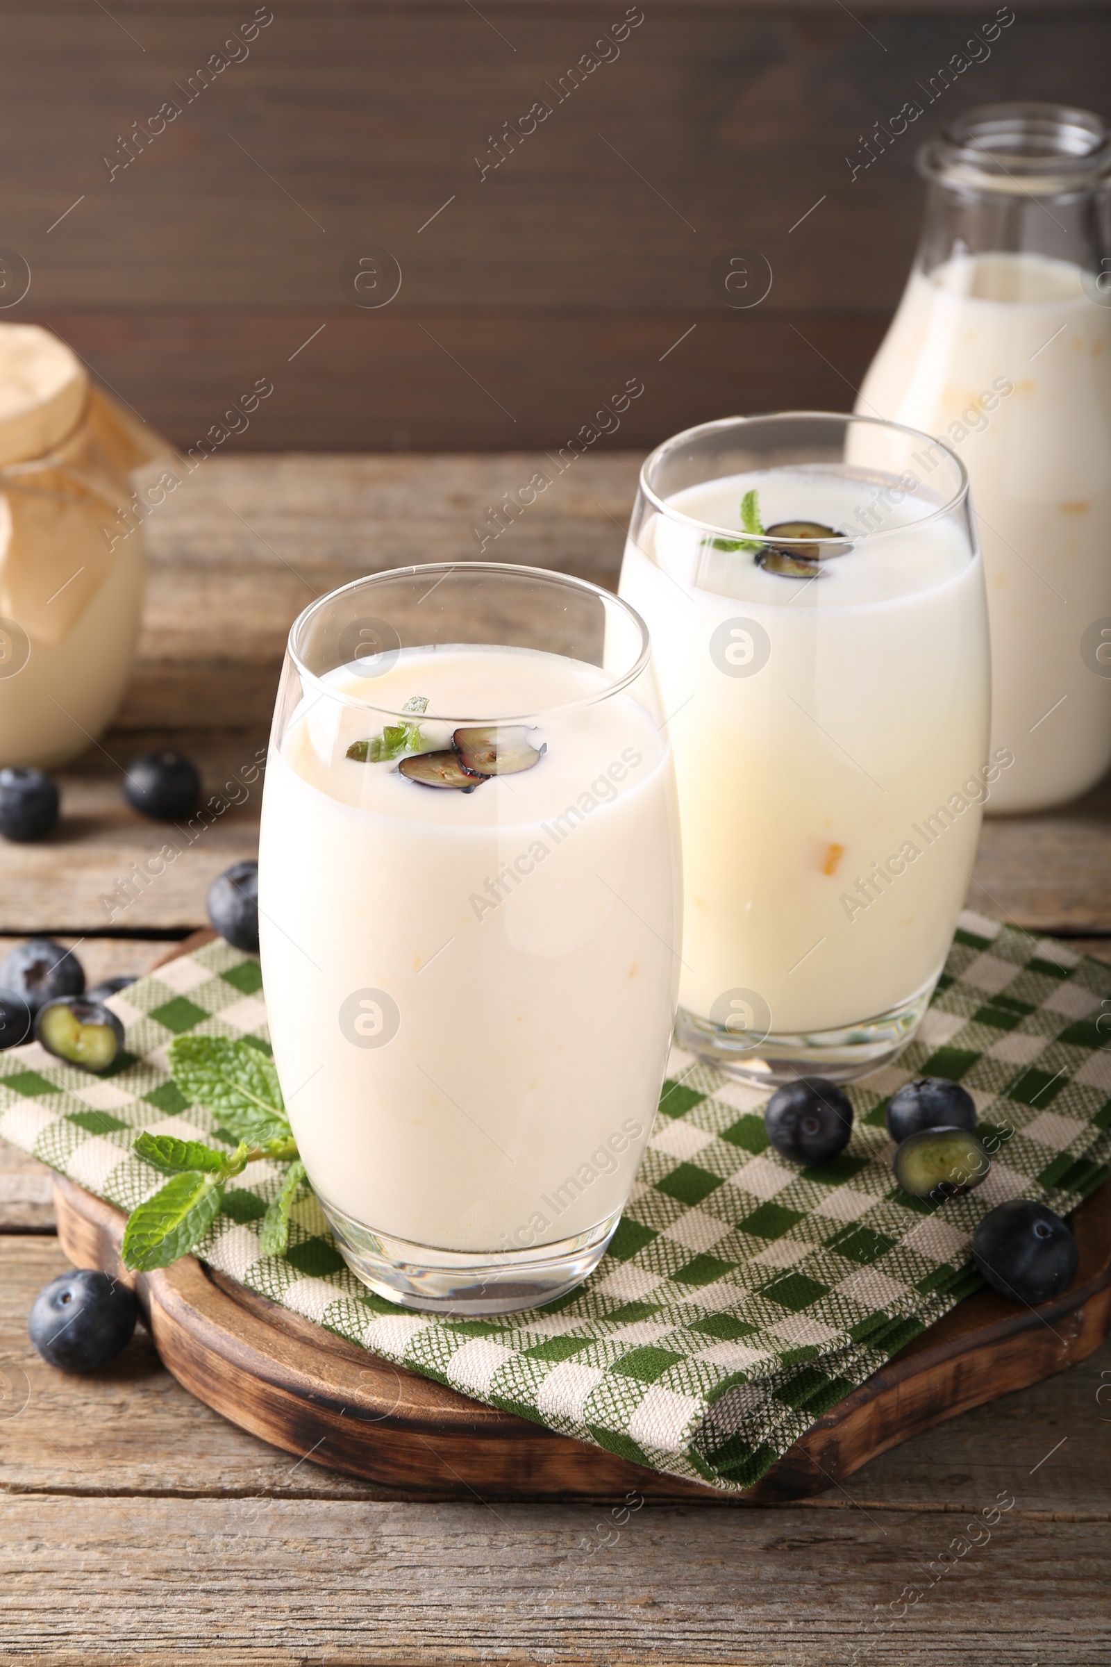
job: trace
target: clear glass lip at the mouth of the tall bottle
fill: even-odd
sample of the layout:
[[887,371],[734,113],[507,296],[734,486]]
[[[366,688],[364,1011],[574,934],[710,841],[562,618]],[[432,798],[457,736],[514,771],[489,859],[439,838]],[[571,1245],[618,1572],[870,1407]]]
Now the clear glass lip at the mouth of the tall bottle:
[[1111,132],[1068,105],[978,105],[921,147],[918,172],[974,192],[1059,197],[1111,177]]

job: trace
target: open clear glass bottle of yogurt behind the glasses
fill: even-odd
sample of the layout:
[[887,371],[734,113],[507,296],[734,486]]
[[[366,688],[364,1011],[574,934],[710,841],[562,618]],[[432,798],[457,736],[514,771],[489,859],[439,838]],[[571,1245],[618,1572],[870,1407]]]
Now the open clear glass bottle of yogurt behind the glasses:
[[858,410],[968,468],[993,660],[989,810],[1043,810],[1111,763],[1111,133],[986,105],[919,153],[923,240]]

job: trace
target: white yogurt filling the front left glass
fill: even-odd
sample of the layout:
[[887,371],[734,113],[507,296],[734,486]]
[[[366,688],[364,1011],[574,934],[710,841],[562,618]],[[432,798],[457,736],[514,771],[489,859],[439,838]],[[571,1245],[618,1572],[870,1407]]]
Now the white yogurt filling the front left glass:
[[[365,1227],[448,1250],[608,1220],[675,1014],[678,834],[658,718],[633,693],[598,698],[596,667],[530,650],[413,648],[378,678],[341,668],[325,685],[393,710],[428,697],[426,745],[468,717],[540,712],[546,752],[473,793],[421,787],[346,758],[383,720],[315,690],[272,748],[262,965],[313,1187]],[[366,990],[388,1002],[360,1009]],[[350,1039],[356,1024],[376,1042],[393,1012],[385,1045]]]

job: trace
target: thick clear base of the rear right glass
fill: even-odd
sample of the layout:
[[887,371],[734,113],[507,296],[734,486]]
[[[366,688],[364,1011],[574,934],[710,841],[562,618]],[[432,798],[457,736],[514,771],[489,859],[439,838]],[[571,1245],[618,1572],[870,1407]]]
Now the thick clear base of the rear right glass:
[[736,1082],[750,1082],[758,1089],[780,1089],[800,1077],[826,1077],[830,1082],[854,1082],[866,1077],[903,1052],[913,1039],[921,1017],[929,1005],[929,984],[901,1007],[893,1007],[876,1019],[838,1030],[810,1030],[786,1035],[770,1030],[756,1042],[745,1032],[736,1034],[710,1019],[698,1019],[680,1007],[675,1020],[675,1040],[688,1054],[715,1065]]

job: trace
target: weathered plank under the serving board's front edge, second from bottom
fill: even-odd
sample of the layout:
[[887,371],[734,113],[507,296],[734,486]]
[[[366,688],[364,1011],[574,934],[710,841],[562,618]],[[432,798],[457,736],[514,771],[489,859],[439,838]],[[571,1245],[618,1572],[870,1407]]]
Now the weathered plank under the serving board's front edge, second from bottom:
[[[67,1265],[53,1239],[0,1239],[0,1360],[10,1375],[25,1374],[28,1395],[17,1420],[0,1417],[2,1490],[403,1497],[311,1460],[298,1462],[225,1422],[170,1377],[142,1329],[120,1360],[95,1377],[65,1377],[47,1367],[27,1340],[27,1314],[35,1292]],[[1111,1390],[1104,1387],[1096,1399],[1108,1380],[1111,1345],[1059,1377],[881,1454],[843,1487],[798,1509],[968,1514],[1009,1489],[1019,1512],[1111,1517]],[[740,1507],[723,1500],[698,1509],[731,1514]]]

